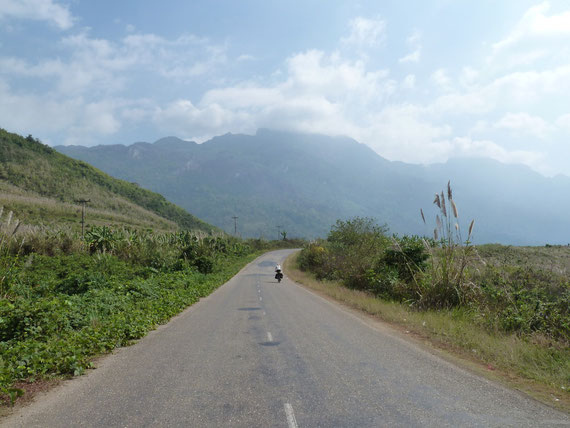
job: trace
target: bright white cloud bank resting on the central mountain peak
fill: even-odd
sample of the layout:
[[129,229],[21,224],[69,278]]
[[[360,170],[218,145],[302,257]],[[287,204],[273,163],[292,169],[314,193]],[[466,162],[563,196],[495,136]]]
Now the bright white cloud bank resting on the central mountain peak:
[[220,128],[251,132],[260,127],[359,137],[366,133],[361,128],[370,126],[365,118],[399,86],[385,70],[369,71],[362,61],[316,50],[291,56],[286,66],[272,85],[245,82],[212,89],[197,104],[181,100],[159,110],[155,121],[192,139]]

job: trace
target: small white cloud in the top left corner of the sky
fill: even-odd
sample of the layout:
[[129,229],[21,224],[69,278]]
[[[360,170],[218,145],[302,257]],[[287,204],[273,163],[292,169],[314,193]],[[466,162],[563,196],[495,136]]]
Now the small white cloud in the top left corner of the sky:
[[74,21],[67,6],[52,0],[0,0],[0,20],[7,18],[47,21],[61,30],[71,28]]

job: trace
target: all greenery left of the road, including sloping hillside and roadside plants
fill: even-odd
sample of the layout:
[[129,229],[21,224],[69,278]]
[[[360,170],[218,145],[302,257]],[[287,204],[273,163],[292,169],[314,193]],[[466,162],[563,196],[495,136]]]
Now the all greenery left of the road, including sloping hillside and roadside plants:
[[229,237],[158,194],[0,129],[0,400],[83,372],[262,251],[303,245],[285,238]]

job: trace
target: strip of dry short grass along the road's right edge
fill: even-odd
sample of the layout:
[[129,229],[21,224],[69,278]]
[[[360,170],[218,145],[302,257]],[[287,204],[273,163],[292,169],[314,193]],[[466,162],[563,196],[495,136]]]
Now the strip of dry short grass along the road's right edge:
[[386,321],[407,335],[428,341],[481,374],[570,411],[570,350],[549,348],[552,344],[541,344],[539,337],[530,343],[516,335],[491,334],[463,309],[411,310],[406,305],[348,289],[338,282],[318,281],[297,269],[297,254],[284,264],[287,275],[294,281]]

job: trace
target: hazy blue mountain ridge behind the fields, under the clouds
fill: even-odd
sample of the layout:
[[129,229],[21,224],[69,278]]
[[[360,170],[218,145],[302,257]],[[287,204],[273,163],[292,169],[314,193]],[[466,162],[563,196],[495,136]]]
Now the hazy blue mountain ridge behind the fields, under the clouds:
[[269,130],[203,144],[167,137],[56,149],[159,192],[226,231],[233,231],[236,215],[244,236],[273,237],[277,226],[295,236],[322,236],[336,219],[355,215],[375,217],[400,234],[429,234],[433,195],[451,180],[460,224],[474,218],[478,242],[570,242],[570,178],[489,159],[412,165],[346,137]]

